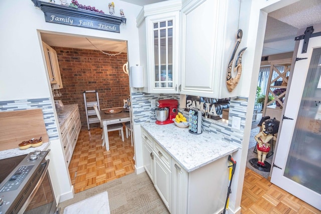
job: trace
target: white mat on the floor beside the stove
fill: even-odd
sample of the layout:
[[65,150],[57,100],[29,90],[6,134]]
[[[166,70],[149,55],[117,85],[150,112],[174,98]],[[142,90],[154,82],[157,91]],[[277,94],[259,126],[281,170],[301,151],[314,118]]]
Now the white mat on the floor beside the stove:
[[108,193],[102,192],[71,204],[64,209],[64,214],[109,214]]

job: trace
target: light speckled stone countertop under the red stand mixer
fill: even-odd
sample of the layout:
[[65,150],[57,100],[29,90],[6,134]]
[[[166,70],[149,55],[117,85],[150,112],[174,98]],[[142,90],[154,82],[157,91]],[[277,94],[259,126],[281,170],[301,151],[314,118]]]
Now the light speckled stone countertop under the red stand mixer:
[[158,125],[146,122],[141,127],[149,133],[181,166],[191,172],[239,147],[215,134],[203,132],[192,134],[188,128],[179,128],[174,123]]

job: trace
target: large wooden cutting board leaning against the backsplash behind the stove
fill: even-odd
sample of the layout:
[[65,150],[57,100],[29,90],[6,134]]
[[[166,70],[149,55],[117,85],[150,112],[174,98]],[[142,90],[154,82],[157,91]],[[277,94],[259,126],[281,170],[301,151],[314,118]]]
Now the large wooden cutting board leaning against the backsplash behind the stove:
[[0,151],[19,148],[32,138],[49,142],[41,109],[0,112]]

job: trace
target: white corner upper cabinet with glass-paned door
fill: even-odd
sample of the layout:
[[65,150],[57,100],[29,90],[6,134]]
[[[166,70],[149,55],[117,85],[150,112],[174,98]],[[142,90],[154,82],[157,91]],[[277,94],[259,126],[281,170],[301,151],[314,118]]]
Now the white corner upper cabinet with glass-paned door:
[[181,1],[146,5],[137,18],[140,63],[147,93],[179,93]]

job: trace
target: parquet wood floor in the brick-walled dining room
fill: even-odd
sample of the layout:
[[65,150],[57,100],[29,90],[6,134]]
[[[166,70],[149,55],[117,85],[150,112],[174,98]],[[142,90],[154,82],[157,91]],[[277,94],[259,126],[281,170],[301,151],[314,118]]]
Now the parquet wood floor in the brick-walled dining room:
[[[125,132],[125,130],[124,130]],[[69,164],[71,183],[75,193],[133,173],[134,147],[130,137],[121,141],[118,131],[108,132],[110,150],[106,151],[101,140],[102,129],[80,131]]]

